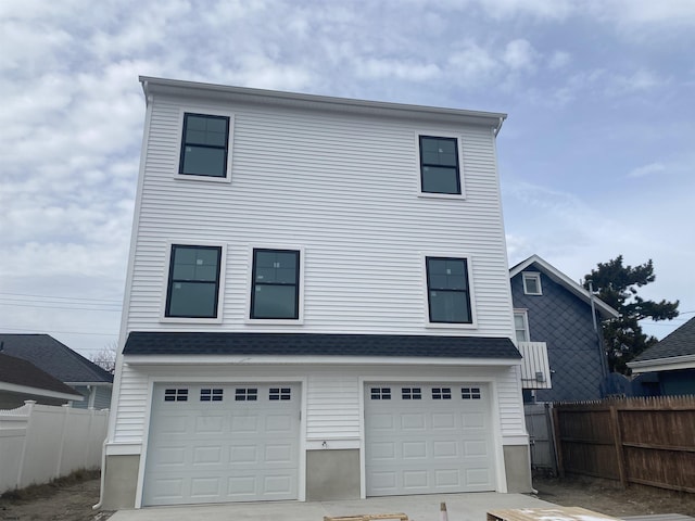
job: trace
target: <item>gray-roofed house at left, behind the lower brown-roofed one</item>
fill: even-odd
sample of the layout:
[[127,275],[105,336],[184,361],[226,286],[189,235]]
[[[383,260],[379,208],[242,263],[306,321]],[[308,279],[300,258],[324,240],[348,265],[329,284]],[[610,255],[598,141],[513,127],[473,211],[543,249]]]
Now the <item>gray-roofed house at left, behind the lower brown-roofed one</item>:
[[0,334],[2,353],[30,361],[76,390],[84,401],[73,407],[108,409],[113,376],[49,334]]

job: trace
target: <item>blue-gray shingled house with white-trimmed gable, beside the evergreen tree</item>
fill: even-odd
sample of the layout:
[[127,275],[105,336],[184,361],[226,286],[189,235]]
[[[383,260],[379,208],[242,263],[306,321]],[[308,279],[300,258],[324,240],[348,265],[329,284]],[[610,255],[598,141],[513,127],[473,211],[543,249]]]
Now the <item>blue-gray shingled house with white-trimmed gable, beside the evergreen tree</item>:
[[[590,293],[538,255],[514,266],[509,278],[517,345],[525,354],[527,344],[545,344],[549,364],[542,382],[522,381],[525,401],[599,398],[607,369]],[[594,297],[593,305],[596,327],[618,316],[599,298]]]

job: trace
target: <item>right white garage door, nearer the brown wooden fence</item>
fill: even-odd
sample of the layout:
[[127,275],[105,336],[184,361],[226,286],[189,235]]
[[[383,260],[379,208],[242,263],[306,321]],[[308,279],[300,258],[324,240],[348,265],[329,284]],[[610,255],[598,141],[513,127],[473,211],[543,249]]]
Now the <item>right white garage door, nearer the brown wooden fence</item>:
[[494,491],[489,405],[483,384],[367,384],[367,495]]

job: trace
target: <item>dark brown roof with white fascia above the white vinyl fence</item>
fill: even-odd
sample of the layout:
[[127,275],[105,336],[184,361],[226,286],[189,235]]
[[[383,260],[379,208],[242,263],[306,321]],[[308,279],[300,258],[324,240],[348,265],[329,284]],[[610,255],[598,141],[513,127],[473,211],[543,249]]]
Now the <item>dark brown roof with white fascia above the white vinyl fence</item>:
[[84,399],[73,387],[64,384],[34,364],[0,353],[0,391],[38,395],[59,399]]

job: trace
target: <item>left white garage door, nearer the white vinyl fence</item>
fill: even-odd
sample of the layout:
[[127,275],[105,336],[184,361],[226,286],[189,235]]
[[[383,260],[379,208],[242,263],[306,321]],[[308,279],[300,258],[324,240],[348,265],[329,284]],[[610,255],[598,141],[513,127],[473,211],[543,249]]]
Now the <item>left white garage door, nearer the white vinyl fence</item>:
[[296,499],[296,384],[157,384],[143,505]]

